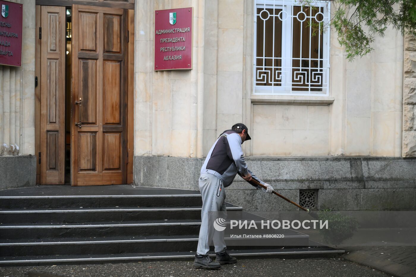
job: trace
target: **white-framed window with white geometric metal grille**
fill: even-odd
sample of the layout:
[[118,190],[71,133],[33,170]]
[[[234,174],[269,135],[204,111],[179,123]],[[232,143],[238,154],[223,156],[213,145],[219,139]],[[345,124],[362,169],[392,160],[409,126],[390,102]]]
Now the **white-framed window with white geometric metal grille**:
[[[296,0],[255,1],[254,94],[329,95],[330,1],[301,7]],[[311,26],[327,28],[313,35]]]

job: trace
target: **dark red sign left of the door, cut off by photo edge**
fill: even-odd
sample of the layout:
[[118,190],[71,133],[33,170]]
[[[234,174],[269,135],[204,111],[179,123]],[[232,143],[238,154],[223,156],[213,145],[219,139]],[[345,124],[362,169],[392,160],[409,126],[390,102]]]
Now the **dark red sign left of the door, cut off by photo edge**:
[[22,66],[23,5],[0,0],[0,64]]

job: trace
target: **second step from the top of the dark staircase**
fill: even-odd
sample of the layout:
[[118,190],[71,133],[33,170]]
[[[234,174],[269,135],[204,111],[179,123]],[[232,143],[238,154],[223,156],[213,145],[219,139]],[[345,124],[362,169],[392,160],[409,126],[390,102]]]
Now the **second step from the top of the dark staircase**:
[[[227,204],[228,211],[243,208]],[[105,207],[0,209],[1,223],[79,223],[90,221],[136,221],[201,219],[201,206],[183,207]]]

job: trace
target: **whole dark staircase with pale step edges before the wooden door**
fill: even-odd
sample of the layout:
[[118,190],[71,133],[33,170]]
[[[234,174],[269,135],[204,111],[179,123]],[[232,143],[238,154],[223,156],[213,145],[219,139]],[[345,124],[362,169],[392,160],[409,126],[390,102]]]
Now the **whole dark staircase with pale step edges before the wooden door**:
[[[130,185],[2,190],[0,265],[191,259],[198,244],[201,204],[198,191]],[[227,210],[239,212],[242,219],[263,219],[229,203]],[[344,252],[311,247],[309,236],[294,230],[284,234],[279,246],[267,239],[263,246],[242,246],[242,241],[236,243],[227,234],[225,238],[230,242],[228,252],[235,256],[317,257]],[[303,246],[287,246],[294,240]]]

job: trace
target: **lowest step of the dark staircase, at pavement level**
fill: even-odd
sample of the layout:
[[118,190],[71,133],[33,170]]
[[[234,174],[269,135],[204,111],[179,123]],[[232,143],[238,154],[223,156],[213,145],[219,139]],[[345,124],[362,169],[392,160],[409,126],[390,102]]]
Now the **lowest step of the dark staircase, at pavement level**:
[[[280,257],[280,258],[303,258],[303,257],[337,257],[344,253],[331,247],[299,247],[299,248],[272,248],[252,250],[228,250],[235,257]],[[109,262],[134,262],[144,260],[191,260],[196,252],[134,252],[106,255],[39,255],[39,256],[14,256],[0,257],[1,266],[28,266],[28,265],[59,265],[59,264],[93,264]],[[210,252],[212,257],[215,253]]]

